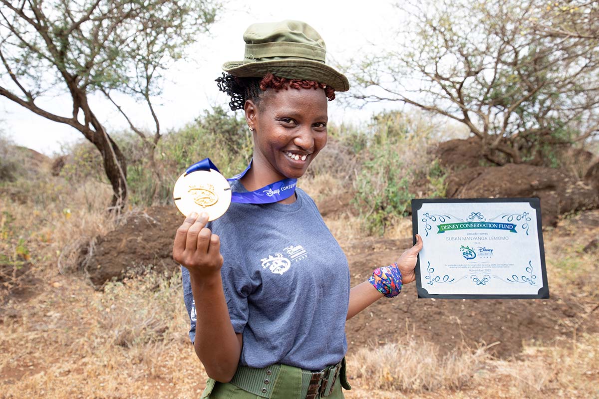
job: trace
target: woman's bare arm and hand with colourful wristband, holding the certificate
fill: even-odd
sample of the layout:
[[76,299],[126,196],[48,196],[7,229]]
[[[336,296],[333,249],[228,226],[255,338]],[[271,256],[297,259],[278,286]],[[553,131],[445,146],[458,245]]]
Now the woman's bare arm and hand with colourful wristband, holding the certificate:
[[[397,267],[400,269],[403,284],[409,284],[416,279],[414,269],[416,267],[416,260],[418,260],[418,252],[420,252],[420,249],[422,249],[422,237],[420,237],[419,234],[416,234],[416,244],[401,254],[400,258],[397,260]],[[374,288],[368,281],[356,285],[356,287],[353,287],[349,292],[349,307],[347,308],[346,320],[357,315],[382,297],[383,294]]]

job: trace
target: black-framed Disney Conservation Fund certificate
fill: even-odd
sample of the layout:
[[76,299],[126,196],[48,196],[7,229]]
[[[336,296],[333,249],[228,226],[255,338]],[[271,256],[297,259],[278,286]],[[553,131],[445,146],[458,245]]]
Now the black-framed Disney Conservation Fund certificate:
[[549,298],[538,198],[414,199],[419,298]]

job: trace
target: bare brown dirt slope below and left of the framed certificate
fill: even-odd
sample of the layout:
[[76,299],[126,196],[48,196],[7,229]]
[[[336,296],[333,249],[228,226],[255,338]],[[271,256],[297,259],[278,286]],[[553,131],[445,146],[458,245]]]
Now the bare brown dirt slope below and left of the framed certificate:
[[[406,240],[369,240],[344,248],[352,271],[352,286],[370,276],[372,270],[397,260],[412,246]],[[346,325],[349,351],[361,346],[402,342],[406,334],[435,342],[447,353],[462,345],[476,347],[500,342],[490,351],[510,357],[524,342],[549,343],[557,336],[577,331],[597,331],[585,310],[567,298],[552,293],[544,300],[434,300],[418,299],[410,284],[394,299],[383,298],[350,319]],[[376,341],[374,340],[376,337]],[[352,349],[353,347],[353,349]]]

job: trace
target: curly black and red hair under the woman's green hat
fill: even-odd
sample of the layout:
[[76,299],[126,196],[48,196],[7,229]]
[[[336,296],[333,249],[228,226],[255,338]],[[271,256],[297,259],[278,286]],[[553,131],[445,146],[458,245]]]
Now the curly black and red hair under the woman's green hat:
[[329,101],[335,99],[335,89],[313,80],[287,79],[266,74],[264,78],[240,78],[223,72],[222,77],[216,79],[216,84],[221,92],[231,97],[229,106],[232,111],[243,109],[246,100],[252,100],[256,104],[260,101],[260,95],[266,89],[287,90],[294,89],[323,89]]

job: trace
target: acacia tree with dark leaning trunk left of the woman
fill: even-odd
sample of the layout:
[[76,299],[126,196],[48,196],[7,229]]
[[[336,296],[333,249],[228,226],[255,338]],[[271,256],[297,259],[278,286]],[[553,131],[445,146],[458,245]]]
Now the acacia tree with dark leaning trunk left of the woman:
[[[118,209],[127,197],[126,160],[90,95],[113,102],[153,160],[161,129],[152,98],[161,93],[162,74],[208,31],[218,10],[212,0],[0,0],[0,95],[92,142],[113,188],[111,209]],[[114,92],[146,102],[152,133],[134,126]],[[65,114],[36,102],[62,93],[72,100]]]

